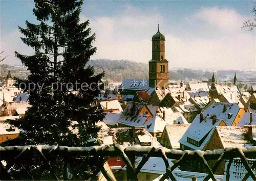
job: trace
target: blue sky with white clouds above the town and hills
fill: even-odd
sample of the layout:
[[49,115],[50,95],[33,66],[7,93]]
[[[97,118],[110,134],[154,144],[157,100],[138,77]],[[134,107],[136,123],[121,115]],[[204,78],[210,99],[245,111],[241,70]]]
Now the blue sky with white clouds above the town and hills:
[[[1,1],[1,47],[8,64],[20,64],[14,50],[31,54],[17,25],[36,22],[33,1]],[[92,59],[151,60],[151,37],[166,37],[170,68],[255,69],[255,34],[241,30],[252,19],[246,1],[84,1],[81,21],[90,19],[97,38]],[[3,62],[4,63],[4,62]]]

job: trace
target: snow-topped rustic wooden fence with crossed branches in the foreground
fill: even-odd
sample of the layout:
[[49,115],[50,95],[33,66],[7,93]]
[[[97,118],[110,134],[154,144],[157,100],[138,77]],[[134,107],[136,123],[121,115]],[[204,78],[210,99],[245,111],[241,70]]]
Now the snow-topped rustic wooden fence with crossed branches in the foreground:
[[[208,175],[204,180],[216,180],[214,177],[214,172],[217,171],[218,166],[224,160],[229,160],[227,165],[227,174],[226,180],[229,180],[229,170],[231,163],[234,158],[240,158],[242,164],[247,170],[246,175],[243,180],[246,180],[249,176],[253,180],[256,180],[256,176],[253,173],[253,169],[256,168],[256,162],[250,167],[247,158],[255,158],[256,157],[256,146],[251,147],[230,147],[225,149],[218,150],[174,150],[167,149],[165,147],[155,148],[152,146],[122,146],[122,145],[114,145],[114,146],[91,146],[91,147],[67,147],[67,146],[47,146],[47,145],[31,145],[31,146],[6,146],[0,147],[0,158],[1,161],[5,160],[5,158],[10,157],[10,154],[15,153],[14,155],[18,155],[15,159],[24,156],[27,153],[33,153],[34,151],[38,151],[41,156],[45,159],[48,166],[51,168],[51,165],[47,161],[45,157],[46,153],[51,153],[53,155],[66,155],[66,156],[88,156],[88,155],[97,155],[99,158],[101,156],[110,156],[110,157],[122,157],[123,161],[127,167],[127,180],[138,180],[137,174],[139,173],[142,166],[146,163],[146,161],[150,157],[161,157],[165,163],[166,173],[161,177],[160,180],[164,180],[166,178],[170,178],[172,180],[176,180],[172,171],[177,168],[182,160],[198,160],[201,159],[204,163],[204,166],[208,170]],[[139,163],[136,169],[133,167],[133,163],[135,162],[135,156],[143,157],[142,161]],[[175,159],[177,162],[170,167],[167,161],[168,159]],[[214,167],[210,169],[207,164],[207,160],[218,160]],[[97,167],[101,170],[106,179],[111,180],[110,175],[105,171],[102,164],[99,162],[96,163]],[[0,168],[0,176],[2,175],[3,166]],[[51,170],[55,175],[54,171]],[[56,180],[58,177],[55,175]],[[63,178],[67,178],[67,171],[63,171]]]

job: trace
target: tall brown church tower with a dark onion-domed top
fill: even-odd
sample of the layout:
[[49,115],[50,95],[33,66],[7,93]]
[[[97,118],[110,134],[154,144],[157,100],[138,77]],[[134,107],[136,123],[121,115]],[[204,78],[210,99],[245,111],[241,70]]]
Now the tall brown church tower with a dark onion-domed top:
[[152,37],[152,60],[149,62],[150,87],[168,87],[168,61],[165,59],[165,37],[158,31]]

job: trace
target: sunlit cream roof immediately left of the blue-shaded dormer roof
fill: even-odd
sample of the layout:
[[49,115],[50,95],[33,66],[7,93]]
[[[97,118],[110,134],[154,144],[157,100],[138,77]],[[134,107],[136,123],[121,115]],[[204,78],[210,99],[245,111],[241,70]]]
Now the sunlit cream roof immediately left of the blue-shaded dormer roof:
[[165,131],[173,149],[180,148],[179,140],[185,134],[189,126],[190,124],[173,124],[165,126]]

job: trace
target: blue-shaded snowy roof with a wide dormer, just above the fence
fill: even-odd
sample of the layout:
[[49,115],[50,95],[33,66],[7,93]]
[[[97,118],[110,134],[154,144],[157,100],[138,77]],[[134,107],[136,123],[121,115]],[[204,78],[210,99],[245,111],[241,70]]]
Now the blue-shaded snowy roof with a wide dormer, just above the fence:
[[[198,114],[179,140],[179,143],[195,150],[203,150],[214,133],[215,127],[220,125],[221,121],[222,119],[218,119],[218,116],[216,122],[209,116],[203,116],[203,120],[200,122],[200,114]],[[191,144],[187,141],[187,138],[193,139],[200,144]]]

